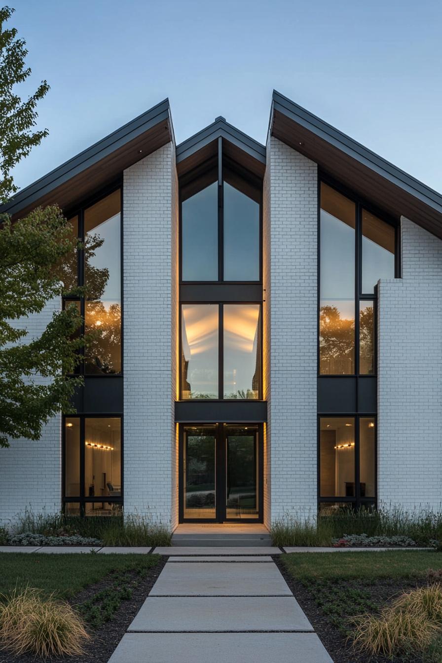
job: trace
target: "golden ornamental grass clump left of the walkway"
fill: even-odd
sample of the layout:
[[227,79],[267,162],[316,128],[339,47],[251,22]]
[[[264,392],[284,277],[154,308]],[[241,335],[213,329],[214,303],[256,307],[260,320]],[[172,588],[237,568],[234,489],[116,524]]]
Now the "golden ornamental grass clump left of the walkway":
[[35,654],[47,658],[84,653],[89,639],[82,618],[66,603],[38,589],[17,588],[0,597],[1,648],[13,654]]

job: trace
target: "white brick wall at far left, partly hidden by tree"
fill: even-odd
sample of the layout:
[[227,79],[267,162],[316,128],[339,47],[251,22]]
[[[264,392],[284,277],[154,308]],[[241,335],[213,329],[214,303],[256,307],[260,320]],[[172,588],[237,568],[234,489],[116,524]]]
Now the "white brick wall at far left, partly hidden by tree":
[[[27,329],[23,343],[41,335],[60,310],[60,300],[48,302],[40,314],[21,318],[17,329]],[[48,383],[37,378],[37,383]],[[61,416],[52,418],[40,440],[10,440],[9,448],[0,449],[0,524],[17,520],[25,509],[34,513],[54,513],[61,508]]]

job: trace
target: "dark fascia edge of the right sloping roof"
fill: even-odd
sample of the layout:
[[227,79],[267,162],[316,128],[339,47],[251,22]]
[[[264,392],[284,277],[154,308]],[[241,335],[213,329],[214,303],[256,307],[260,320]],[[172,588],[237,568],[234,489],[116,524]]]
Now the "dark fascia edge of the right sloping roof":
[[433,208],[433,210],[442,213],[442,196],[437,191],[431,189],[423,182],[419,182],[414,177],[406,173],[404,170],[397,168],[394,164],[382,158],[375,152],[364,147],[357,141],[354,141],[349,136],[345,135],[339,129],[335,129],[327,122],[324,122],[313,113],[305,110],[302,106],[294,103],[284,97],[276,90],[273,91],[272,96],[272,109],[270,111],[270,131],[273,126],[274,111],[278,111],[286,117],[298,123],[307,131],[311,131],[317,137],[327,141],[337,149],[345,152],[348,156],[359,161],[364,166],[370,168],[380,176],[386,178],[392,184],[399,186],[404,191],[408,192],[425,205]]

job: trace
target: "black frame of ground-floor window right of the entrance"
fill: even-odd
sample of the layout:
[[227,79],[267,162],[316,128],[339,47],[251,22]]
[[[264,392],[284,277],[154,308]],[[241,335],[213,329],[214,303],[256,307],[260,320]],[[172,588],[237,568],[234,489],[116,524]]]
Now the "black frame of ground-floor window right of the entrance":
[[[321,497],[321,419],[342,419],[345,417],[355,420],[355,497]],[[374,421],[374,497],[360,497],[360,420],[372,419]],[[317,415],[317,508],[321,504],[343,504],[360,509],[360,507],[374,509],[378,506],[378,416],[377,414],[358,413],[355,414],[331,414],[322,413]]]

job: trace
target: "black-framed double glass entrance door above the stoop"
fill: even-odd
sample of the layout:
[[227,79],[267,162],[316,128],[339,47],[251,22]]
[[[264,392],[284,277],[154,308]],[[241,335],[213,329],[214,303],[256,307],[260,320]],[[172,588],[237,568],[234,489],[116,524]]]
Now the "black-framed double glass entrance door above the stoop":
[[180,465],[181,521],[262,522],[260,426],[183,426]]

